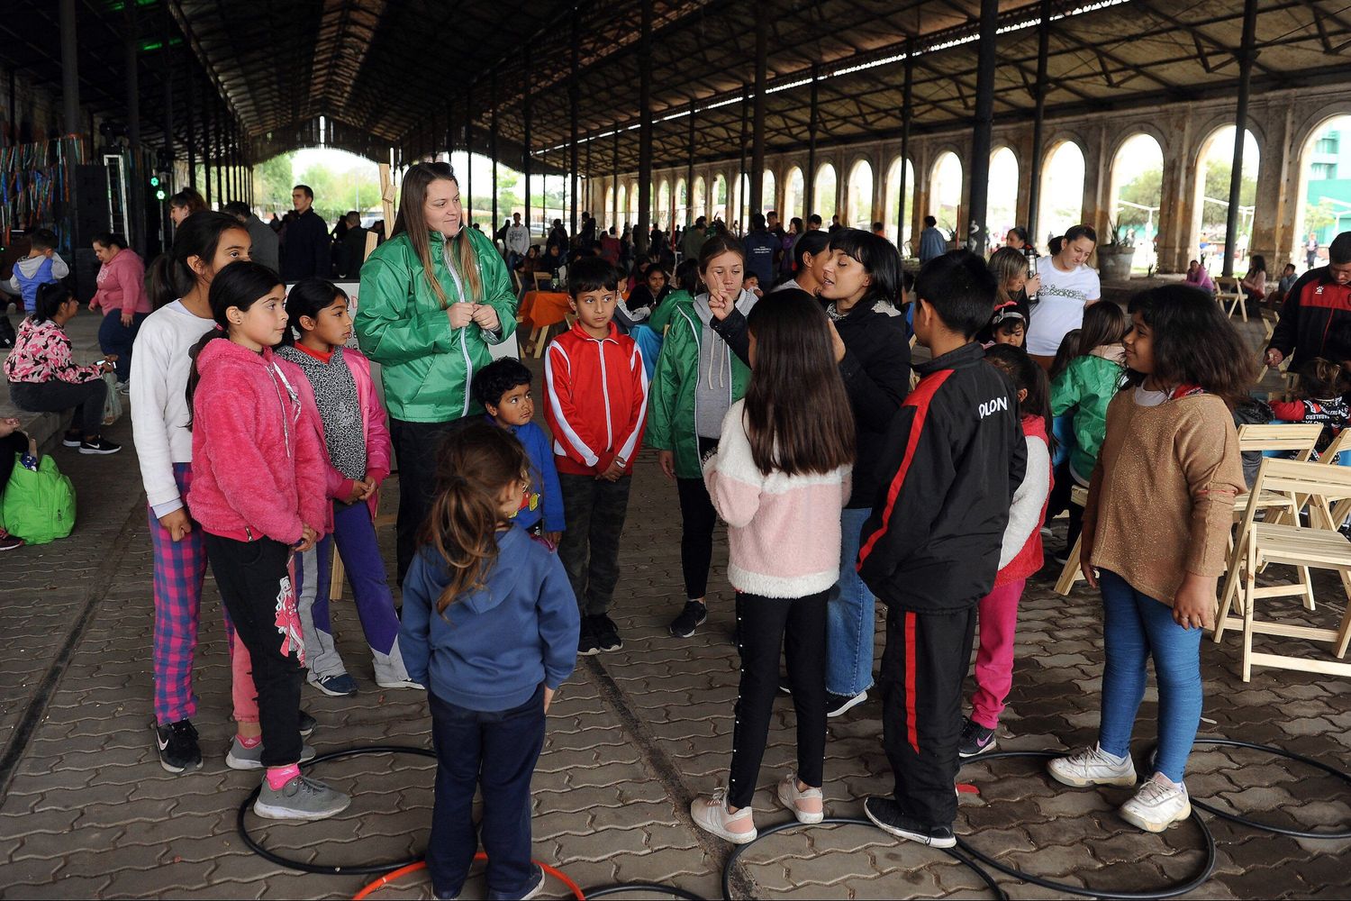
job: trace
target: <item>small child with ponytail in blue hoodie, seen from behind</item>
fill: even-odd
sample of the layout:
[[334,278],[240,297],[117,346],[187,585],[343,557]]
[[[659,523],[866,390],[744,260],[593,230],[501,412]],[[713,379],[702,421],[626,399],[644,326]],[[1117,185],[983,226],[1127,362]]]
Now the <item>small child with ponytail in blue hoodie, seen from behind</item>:
[[577,598],[558,557],[512,523],[530,461],[507,430],[473,423],[447,436],[436,484],[399,629],[408,674],[428,689],[436,748],[427,870],[435,897],[458,897],[481,838],[488,897],[532,898],[544,873],[530,859],[530,778],[544,713],[577,662]]

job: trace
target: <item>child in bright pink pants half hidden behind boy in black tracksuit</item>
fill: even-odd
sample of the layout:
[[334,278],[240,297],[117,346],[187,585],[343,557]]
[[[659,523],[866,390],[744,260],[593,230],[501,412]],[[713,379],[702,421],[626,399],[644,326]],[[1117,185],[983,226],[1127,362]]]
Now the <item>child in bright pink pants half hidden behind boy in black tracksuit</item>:
[[1001,369],[1017,388],[1027,443],[1027,474],[1013,492],[1009,524],[1000,550],[1000,571],[994,590],[981,598],[978,621],[981,643],[975,652],[975,693],[971,716],[962,727],[959,754],[963,758],[994,750],[994,729],[1004,712],[1004,698],[1013,685],[1013,634],[1017,602],[1029,575],[1042,569],[1040,524],[1051,493],[1051,386],[1046,371],[1021,347],[996,344],[986,359]]

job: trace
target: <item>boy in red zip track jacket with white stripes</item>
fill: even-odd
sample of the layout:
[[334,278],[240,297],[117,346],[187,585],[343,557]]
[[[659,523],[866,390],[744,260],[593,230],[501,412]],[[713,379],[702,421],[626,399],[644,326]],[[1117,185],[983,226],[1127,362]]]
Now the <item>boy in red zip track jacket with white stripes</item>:
[[577,321],[549,346],[544,419],[567,523],[558,557],[581,608],[581,655],[624,647],[609,608],[630,473],[647,420],[647,370],[634,339],[611,323],[619,272],[584,257],[567,273],[567,290]]

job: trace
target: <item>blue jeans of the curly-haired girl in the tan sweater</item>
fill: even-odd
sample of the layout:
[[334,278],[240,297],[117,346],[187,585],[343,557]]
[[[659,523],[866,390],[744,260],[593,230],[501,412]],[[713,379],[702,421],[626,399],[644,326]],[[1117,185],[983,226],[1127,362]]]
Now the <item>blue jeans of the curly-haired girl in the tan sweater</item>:
[[1136,592],[1109,570],[1100,570],[1102,586],[1102,723],[1098,744],[1108,754],[1131,752],[1135,715],[1148,678],[1146,661],[1154,657],[1159,684],[1159,751],[1154,769],[1182,781],[1201,723],[1201,629],[1173,621],[1173,608]]

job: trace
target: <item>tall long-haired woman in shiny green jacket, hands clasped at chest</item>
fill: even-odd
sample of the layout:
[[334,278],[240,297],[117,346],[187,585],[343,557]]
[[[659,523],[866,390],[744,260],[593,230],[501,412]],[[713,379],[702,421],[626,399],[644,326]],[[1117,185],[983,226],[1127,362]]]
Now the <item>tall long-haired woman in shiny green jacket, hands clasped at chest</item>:
[[443,162],[404,174],[393,235],[361,267],[357,340],[381,366],[399,459],[399,582],[436,488],[436,448],[455,423],[482,413],[470,382],[489,344],[516,330],[501,255],[465,226],[459,182]]

